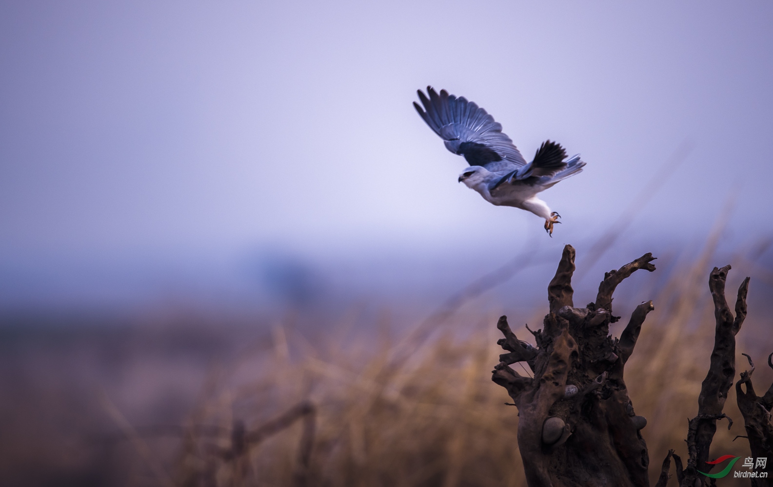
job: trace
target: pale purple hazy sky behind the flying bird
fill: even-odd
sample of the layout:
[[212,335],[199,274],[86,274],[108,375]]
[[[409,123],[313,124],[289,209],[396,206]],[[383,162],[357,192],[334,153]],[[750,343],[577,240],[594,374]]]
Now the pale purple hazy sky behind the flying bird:
[[771,25],[767,1],[2,2],[0,268],[508,259],[542,222],[457,183],[427,84],[527,158],[582,154],[546,246],[607,228],[683,140],[636,227],[694,242],[740,184],[741,245],[773,228]]

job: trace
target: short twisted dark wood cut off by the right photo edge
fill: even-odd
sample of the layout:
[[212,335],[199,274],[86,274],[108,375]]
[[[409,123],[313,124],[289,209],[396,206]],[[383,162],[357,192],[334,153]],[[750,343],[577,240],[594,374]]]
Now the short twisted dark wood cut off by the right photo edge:
[[[768,458],[768,462],[773,462],[773,425],[771,425],[770,413],[771,407],[773,407],[773,384],[764,396],[758,397],[757,394],[754,394],[754,387],[751,385],[754,362],[748,355],[746,357],[749,360],[751,370],[741,372],[741,380],[735,383],[738,409],[744,416],[746,438],[749,440],[751,456],[755,459]],[[768,355],[768,365],[773,368],[771,357],[773,357],[773,353]],[[743,391],[741,385],[746,386],[746,392]],[[766,465],[766,471],[768,468],[771,467]],[[752,487],[770,487],[773,486],[773,478],[751,479],[751,485]]]

